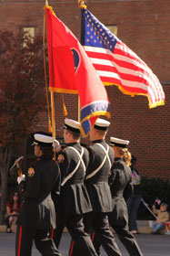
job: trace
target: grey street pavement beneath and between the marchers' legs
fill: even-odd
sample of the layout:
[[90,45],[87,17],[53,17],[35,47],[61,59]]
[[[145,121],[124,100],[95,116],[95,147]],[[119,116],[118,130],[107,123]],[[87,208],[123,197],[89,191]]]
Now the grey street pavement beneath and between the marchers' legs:
[[[170,236],[167,235],[152,235],[152,234],[138,234],[135,238],[143,251],[144,256],[170,256]],[[127,256],[128,253],[125,247],[117,239],[115,240],[122,251],[123,256]],[[63,256],[68,255],[68,249],[70,244],[70,236],[68,233],[64,233],[59,250]],[[32,256],[40,256],[41,254],[33,246]],[[15,233],[0,233],[0,256],[15,256]],[[80,255],[81,256],[81,255]],[[104,250],[102,250],[101,256],[106,256]]]

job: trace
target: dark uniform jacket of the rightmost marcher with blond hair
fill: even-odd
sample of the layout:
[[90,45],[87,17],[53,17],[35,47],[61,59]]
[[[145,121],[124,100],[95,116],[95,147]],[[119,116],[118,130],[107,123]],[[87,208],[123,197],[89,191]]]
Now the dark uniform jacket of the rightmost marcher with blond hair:
[[124,195],[125,197],[130,197],[133,194],[131,181],[130,167],[125,165],[125,162],[121,158],[115,158],[111,176],[109,176],[109,185],[112,194],[112,213],[109,214],[109,220],[111,219],[110,222],[112,222],[113,219],[115,226],[124,226],[128,221]]

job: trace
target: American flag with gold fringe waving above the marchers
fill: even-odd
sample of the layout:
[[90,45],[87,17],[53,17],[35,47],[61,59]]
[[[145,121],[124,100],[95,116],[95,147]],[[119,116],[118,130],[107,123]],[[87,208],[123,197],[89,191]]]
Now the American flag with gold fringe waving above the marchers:
[[165,93],[153,71],[133,50],[83,8],[81,44],[105,85],[115,84],[129,95],[145,95],[149,107],[165,104]]

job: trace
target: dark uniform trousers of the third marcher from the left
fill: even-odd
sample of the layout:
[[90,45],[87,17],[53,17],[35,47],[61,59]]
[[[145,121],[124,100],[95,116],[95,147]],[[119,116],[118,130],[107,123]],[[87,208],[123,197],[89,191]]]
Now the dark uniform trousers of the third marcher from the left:
[[[103,245],[105,252],[108,256],[121,256],[121,252],[115,242],[114,235],[112,234],[108,217],[106,213],[103,212],[89,212],[84,215],[85,232],[90,233],[91,230],[95,230],[95,235],[97,240]],[[80,256],[78,248],[74,241],[71,244],[71,254],[70,256]]]

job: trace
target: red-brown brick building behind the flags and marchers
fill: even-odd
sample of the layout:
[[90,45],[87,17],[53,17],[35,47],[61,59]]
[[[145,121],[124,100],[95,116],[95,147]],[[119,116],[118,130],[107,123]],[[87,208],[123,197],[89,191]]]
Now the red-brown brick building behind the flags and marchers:
[[[77,0],[48,1],[76,37],[80,36],[80,9]],[[0,0],[0,29],[18,25],[43,33],[45,1]],[[107,87],[112,107],[109,136],[130,140],[129,149],[137,157],[142,176],[170,177],[170,1],[87,0],[88,9],[106,26],[117,27],[119,37],[154,71],[165,91],[165,106],[148,108],[144,96],[130,97],[116,86]],[[42,49],[43,50],[43,49]],[[77,119],[76,95],[65,94],[68,117]],[[39,113],[38,127],[47,129],[47,113]],[[55,94],[56,132],[64,121],[62,98]],[[37,127],[37,129],[38,129]]]

